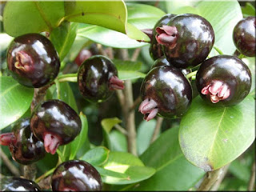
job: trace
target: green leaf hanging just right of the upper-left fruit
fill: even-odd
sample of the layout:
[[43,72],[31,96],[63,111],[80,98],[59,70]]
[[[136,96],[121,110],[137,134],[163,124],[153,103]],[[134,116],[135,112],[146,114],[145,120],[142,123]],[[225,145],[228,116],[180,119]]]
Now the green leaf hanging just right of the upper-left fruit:
[[63,22],[61,26],[55,28],[50,34],[50,41],[53,42],[55,49],[58,51],[61,62],[73,45],[77,28],[78,23]]

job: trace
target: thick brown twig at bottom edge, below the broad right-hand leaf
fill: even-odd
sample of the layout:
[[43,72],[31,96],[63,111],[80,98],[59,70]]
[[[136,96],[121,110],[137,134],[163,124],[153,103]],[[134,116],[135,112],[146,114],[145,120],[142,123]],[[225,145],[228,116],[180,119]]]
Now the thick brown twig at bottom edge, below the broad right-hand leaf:
[[218,170],[213,170],[213,171],[207,172],[201,185],[198,187],[198,191],[210,190],[210,187],[214,185],[214,182],[217,181],[217,179],[222,174],[222,172],[223,172],[223,167]]

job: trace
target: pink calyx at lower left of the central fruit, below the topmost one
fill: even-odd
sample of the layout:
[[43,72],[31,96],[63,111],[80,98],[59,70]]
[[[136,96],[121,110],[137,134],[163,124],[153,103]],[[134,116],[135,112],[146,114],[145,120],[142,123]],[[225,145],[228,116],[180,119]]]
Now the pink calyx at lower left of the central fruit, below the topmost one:
[[144,114],[144,119],[148,122],[158,114],[158,103],[152,98],[146,98],[138,107],[138,111]]

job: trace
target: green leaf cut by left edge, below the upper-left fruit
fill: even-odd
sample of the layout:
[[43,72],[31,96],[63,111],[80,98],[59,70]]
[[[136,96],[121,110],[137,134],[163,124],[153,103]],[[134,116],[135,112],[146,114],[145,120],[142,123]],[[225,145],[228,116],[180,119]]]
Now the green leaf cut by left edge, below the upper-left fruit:
[[0,130],[16,122],[30,108],[34,89],[20,85],[14,78],[0,77]]

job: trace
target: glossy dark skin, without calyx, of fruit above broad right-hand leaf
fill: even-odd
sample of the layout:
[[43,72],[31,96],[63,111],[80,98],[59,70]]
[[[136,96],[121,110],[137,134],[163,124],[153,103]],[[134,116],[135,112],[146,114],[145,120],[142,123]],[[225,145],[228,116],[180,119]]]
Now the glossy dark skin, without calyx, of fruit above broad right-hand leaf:
[[[202,94],[202,88],[213,80],[225,82],[230,88],[230,96],[217,103],[210,102],[209,95]],[[250,69],[239,58],[230,55],[218,55],[202,62],[196,75],[196,86],[200,96],[214,106],[234,106],[242,102],[250,93]]]

